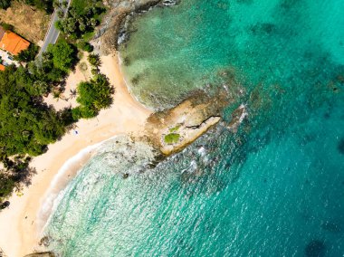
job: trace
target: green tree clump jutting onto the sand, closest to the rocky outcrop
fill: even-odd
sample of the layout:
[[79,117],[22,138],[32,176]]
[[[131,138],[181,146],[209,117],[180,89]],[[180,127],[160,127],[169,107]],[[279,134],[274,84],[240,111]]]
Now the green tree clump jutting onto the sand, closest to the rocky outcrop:
[[81,82],[78,85],[77,102],[80,106],[72,109],[73,119],[90,119],[95,117],[100,109],[109,108],[112,103],[113,88],[108,78],[97,74],[90,82]]

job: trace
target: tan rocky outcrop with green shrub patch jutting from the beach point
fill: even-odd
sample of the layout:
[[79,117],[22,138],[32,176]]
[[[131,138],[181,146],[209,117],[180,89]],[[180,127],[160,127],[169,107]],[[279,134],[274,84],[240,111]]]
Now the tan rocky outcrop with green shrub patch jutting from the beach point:
[[148,141],[165,156],[186,148],[221,120],[228,104],[225,93],[210,97],[197,91],[177,107],[158,111],[148,118]]

